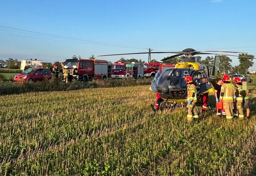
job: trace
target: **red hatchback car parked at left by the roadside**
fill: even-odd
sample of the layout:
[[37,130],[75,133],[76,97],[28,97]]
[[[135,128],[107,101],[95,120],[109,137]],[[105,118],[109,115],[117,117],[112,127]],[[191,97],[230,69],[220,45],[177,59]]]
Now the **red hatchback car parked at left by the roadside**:
[[22,73],[16,75],[13,79],[14,82],[37,82],[37,81],[51,81],[52,74],[50,69],[46,68],[30,68]]

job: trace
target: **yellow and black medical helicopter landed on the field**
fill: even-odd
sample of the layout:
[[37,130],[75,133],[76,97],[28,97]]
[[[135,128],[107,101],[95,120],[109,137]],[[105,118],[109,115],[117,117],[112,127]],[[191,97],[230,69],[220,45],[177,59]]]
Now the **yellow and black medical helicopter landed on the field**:
[[[176,106],[184,106],[186,104],[187,85],[184,80],[186,76],[193,78],[193,83],[197,88],[197,95],[204,95],[209,92],[213,92],[213,86],[221,79],[221,73],[219,71],[220,57],[219,55],[236,56],[230,54],[217,54],[217,53],[245,53],[245,52],[233,52],[233,51],[196,51],[192,48],[184,49],[180,52],[142,52],[142,53],[127,53],[127,54],[112,54],[112,55],[100,55],[100,56],[113,56],[113,55],[130,55],[130,54],[151,54],[151,53],[172,53],[176,54],[162,59],[166,61],[175,57],[183,57],[181,62],[178,62],[174,68],[167,68],[164,71],[158,70],[150,89],[153,92],[158,92],[160,97],[164,100],[161,105],[171,105],[172,108]],[[209,68],[196,61],[195,55],[201,54],[214,54],[215,59],[211,72]],[[246,54],[246,53],[245,53]],[[237,56],[238,57],[238,56]],[[246,57],[250,58],[250,57]],[[208,98],[208,96],[207,96]],[[202,97],[198,98],[199,100]],[[208,104],[209,106],[209,104]],[[209,106],[209,108],[212,110]]]

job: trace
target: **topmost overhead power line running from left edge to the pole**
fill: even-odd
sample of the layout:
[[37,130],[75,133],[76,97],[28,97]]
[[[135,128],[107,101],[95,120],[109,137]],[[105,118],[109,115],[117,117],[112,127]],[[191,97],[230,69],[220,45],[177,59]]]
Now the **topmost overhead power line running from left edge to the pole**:
[[94,42],[94,41],[83,40],[83,39],[76,39],[76,38],[71,38],[71,37],[63,37],[63,36],[52,35],[52,34],[46,34],[46,33],[40,33],[40,32],[34,32],[34,31],[28,31],[28,30],[23,30],[23,29],[10,28],[10,27],[6,27],[6,26],[0,26],[0,27],[2,27],[2,28],[8,28],[8,29],[14,29],[14,30],[19,30],[19,31],[25,31],[25,32],[31,32],[31,33],[36,33],[36,34],[43,34],[43,35],[48,35],[48,36],[54,36],[54,37],[72,39],[72,40],[79,40],[79,41],[85,41],[85,42],[91,42],[91,43],[97,43],[97,44],[112,45],[112,46],[116,46],[116,47],[126,47],[126,48],[135,48],[135,49],[146,49],[146,48],[131,47],[131,46],[117,45],[117,44],[110,44],[110,43],[103,43],[103,42]]

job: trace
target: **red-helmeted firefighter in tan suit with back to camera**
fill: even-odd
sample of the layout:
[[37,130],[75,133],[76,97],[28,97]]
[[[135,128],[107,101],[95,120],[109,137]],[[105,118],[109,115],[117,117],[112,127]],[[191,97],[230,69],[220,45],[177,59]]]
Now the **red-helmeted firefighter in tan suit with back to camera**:
[[221,86],[220,101],[223,101],[223,108],[226,112],[226,118],[233,118],[233,102],[235,101],[235,86],[229,80],[228,75],[223,76],[224,84]]

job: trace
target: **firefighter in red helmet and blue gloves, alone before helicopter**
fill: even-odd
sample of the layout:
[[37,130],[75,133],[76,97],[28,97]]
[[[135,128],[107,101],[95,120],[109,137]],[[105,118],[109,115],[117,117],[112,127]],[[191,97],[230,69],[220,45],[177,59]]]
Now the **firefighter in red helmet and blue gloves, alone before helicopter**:
[[195,121],[198,120],[198,113],[196,110],[196,102],[197,102],[197,91],[196,91],[196,87],[193,84],[193,80],[190,76],[187,76],[185,78],[185,81],[187,83],[187,87],[188,87],[188,96],[187,96],[187,100],[188,100],[188,105],[187,105],[187,120],[188,123],[193,121],[193,118],[195,119]]

